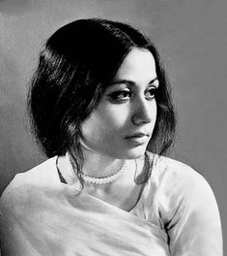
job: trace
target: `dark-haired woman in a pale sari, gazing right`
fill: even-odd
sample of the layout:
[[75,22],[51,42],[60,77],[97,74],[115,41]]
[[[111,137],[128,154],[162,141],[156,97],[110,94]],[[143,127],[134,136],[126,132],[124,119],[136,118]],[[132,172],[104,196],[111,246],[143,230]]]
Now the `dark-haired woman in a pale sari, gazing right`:
[[211,187],[163,156],[175,113],[141,32],[98,18],[63,26],[28,102],[48,160],[1,198],[3,255],[222,255]]

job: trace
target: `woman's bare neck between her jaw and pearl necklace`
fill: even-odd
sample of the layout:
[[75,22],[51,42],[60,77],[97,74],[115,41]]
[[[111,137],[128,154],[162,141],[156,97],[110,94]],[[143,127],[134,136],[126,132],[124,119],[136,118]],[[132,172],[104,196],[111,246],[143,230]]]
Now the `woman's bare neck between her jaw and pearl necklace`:
[[83,147],[83,174],[103,177],[115,174],[123,165],[124,160],[115,159]]

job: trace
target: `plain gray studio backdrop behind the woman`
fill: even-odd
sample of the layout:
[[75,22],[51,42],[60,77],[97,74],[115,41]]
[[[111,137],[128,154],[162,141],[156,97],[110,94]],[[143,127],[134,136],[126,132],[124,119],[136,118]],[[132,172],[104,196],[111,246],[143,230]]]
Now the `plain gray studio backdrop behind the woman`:
[[43,41],[73,19],[93,16],[129,22],[154,38],[179,115],[172,156],[210,182],[225,241],[226,0],[1,0],[0,192],[16,173],[44,160],[31,138],[25,110],[28,81]]

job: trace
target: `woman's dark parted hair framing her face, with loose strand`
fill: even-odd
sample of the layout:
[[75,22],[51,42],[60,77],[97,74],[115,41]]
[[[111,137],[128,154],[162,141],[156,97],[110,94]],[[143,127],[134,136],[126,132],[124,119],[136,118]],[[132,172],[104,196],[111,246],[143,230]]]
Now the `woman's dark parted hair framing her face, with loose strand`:
[[78,19],[58,29],[40,53],[28,94],[33,131],[47,157],[70,152],[79,177],[81,123],[97,108],[105,88],[134,47],[150,50],[156,60],[160,86],[148,149],[163,154],[173,142],[176,118],[159,54],[144,34],[117,21]]

